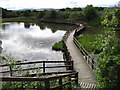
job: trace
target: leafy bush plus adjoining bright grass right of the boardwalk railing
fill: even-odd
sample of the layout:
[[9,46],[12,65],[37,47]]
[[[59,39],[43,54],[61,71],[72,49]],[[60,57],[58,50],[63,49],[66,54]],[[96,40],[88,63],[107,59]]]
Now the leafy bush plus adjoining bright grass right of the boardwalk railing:
[[77,39],[87,51],[98,55],[96,70],[98,88],[118,89],[120,38],[116,33],[120,30],[120,9],[106,9],[101,17],[104,35],[85,35]]

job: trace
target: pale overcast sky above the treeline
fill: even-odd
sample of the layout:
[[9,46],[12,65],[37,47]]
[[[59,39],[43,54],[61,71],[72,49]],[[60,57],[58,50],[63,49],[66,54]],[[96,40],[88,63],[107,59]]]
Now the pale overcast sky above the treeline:
[[65,8],[93,6],[115,6],[120,0],[0,0],[0,7],[16,10],[24,8]]

